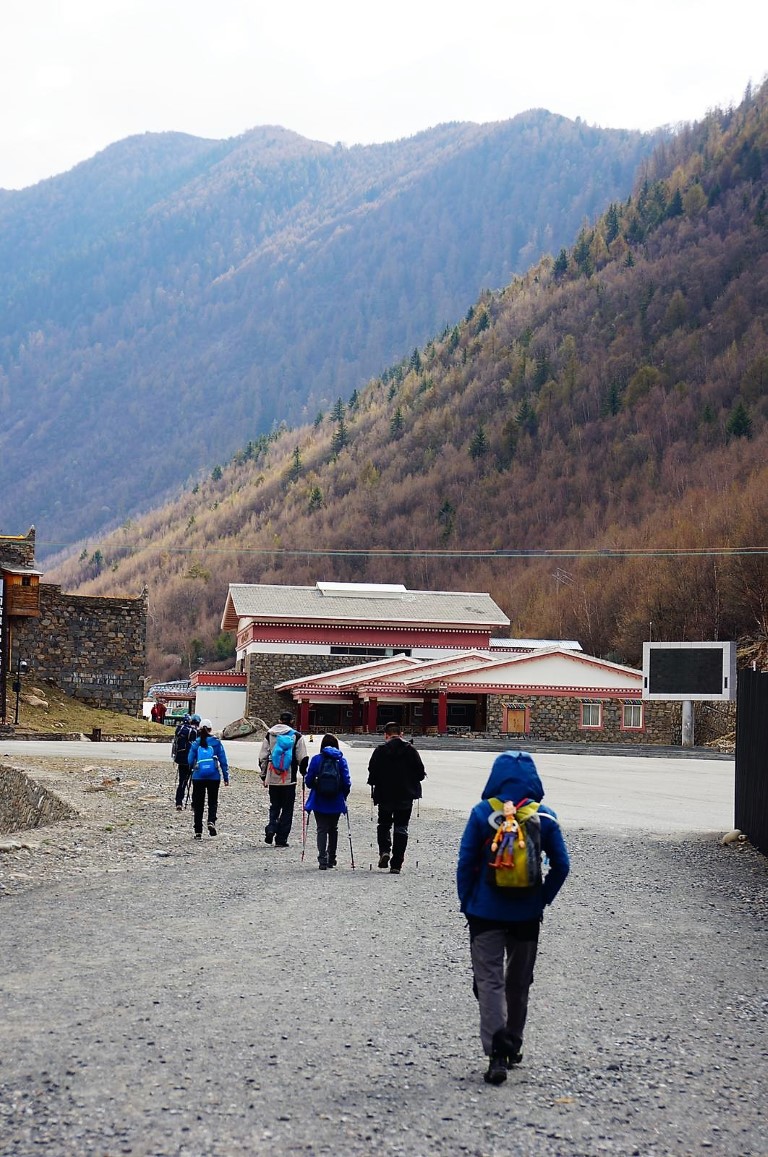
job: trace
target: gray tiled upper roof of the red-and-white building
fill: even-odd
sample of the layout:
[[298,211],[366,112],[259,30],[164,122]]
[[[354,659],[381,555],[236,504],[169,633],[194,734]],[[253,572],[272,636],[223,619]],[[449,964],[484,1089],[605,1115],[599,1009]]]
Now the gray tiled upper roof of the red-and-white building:
[[509,619],[489,595],[465,591],[378,591],[360,583],[316,587],[271,587],[231,583],[222,619],[234,629],[239,619],[287,621],[404,622],[448,627],[509,626]]

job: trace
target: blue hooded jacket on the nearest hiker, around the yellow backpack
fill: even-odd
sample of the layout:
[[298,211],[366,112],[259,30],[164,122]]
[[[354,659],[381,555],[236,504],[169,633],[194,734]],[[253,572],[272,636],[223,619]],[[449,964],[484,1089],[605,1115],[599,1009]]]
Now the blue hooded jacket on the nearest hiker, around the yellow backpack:
[[544,804],[539,808],[541,819],[541,854],[549,860],[541,890],[534,896],[509,897],[494,887],[486,871],[490,860],[488,823],[493,808],[489,799],[511,799],[520,804],[523,799],[544,798],[544,788],[533,759],[526,751],[504,751],[494,760],[490,775],[482,791],[482,799],[470,812],[456,870],[456,884],[461,912],[466,916],[516,923],[518,920],[537,920],[547,904],[552,904],[562,887],[570,869],[570,860],[562,838],[557,817]]

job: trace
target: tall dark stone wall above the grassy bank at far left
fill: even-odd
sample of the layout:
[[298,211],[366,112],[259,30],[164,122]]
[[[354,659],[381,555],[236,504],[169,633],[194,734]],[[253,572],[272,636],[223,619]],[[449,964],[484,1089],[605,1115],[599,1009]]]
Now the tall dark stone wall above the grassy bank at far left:
[[64,595],[40,583],[39,618],[14,624],[13,659],[21,655],[29,677],[50,679],[75,699],[126,715],[143,701],[147,596],[101,598]]

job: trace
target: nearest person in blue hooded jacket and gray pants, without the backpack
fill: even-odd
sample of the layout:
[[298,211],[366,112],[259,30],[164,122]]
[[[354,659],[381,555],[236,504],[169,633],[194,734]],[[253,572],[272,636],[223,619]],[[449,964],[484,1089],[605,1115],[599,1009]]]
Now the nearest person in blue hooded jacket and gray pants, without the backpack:
[[[541,804],[542,798],[544,788],[531,756],[524,751],[503,752],[494,760],[482,799],[470,813],[459,848],[456,879],[470,927],[480,1039],[490,1057],[485,1074],[489,1084],[501,1084],[507,1070],[523,1060],[539,928],[545,907],[552,904],[570,869],[557,817]],[[501,808],[510,799],[518,816],[533,811],[540,824],[541,858],[548,858],[549,869],[533,887],[499,887],[494,883],[497,876],[489,868],[495,858],[490,845],[503,816]],[[533,806],[526,808],[526,802]]]

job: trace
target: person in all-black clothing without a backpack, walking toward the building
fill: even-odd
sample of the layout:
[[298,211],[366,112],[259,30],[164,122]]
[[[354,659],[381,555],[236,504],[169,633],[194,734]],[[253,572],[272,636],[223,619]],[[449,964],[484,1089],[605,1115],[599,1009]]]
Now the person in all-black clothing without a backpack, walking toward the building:
[[421,798],[421,781],[427,773],[413,744],[403,742],[399,723],[386,724],[384,740],[370,757],[368,783],[378,806],[378,867],[397,875],[408,846],[413,801]]

